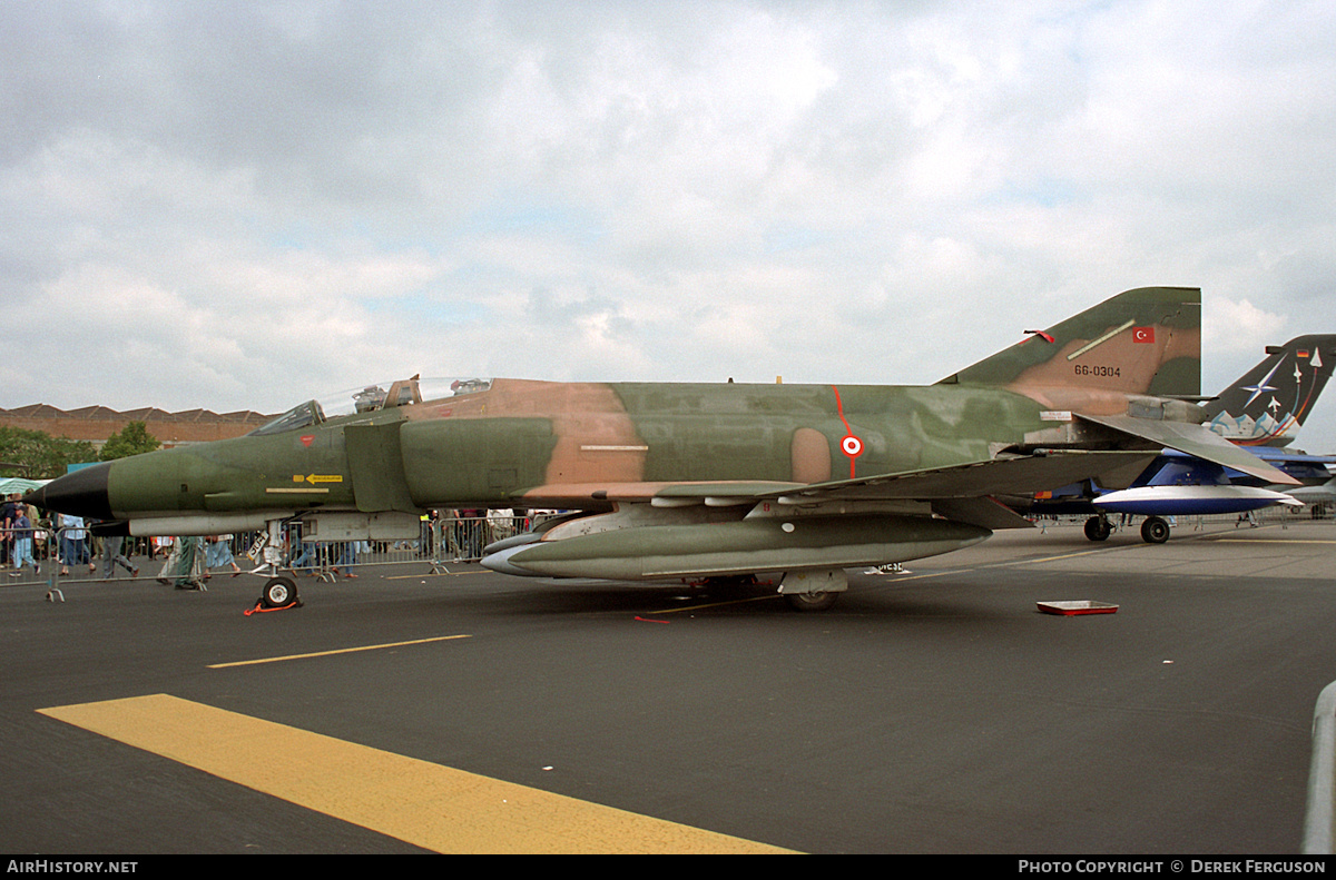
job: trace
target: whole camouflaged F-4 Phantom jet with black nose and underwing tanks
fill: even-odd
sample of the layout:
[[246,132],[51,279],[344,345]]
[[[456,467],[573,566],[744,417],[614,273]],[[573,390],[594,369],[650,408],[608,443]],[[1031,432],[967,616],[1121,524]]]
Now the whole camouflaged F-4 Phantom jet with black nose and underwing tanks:
[[[540,577],[775,577],[799,609],[844,569],[970,546],[1030,523],[993,501],[1094,478],[1126,486],[1161,449],[1275,483],[1213,434],[1200,399],[1201,291],[1120,294],[931,386],[403,379],[333,415],[302,403],[228,441],[67,474],[28,501],[134,535],[267,530],[413,538],[438,507],[574,513],[493,543]],[[258,569],[259,572],[259,569]]]

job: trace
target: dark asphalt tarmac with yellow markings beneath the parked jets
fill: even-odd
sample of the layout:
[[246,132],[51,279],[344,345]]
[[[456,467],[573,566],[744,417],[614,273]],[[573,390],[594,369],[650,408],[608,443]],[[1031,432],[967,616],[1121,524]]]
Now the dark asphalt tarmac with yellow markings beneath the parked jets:
[[1332,522],[1003,533],[808,614],[425,562],[250,616],[250,576],[4,586],[0,851],[1297,853],[1333,561]]

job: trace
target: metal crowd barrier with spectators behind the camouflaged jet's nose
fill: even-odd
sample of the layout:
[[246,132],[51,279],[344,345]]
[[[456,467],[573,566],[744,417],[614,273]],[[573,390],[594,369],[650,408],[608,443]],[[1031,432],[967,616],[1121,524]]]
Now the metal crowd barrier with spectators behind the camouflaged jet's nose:
[[[358,577],[363,566],[424,562],[444,568],[476,562],[482,547],[528,530],[530,517],[505,514],[424,519],[403,541],[305,539],[301,522],[285,525],[281,568],[322,580]],[[202,580],[254,570],[265,533],[198,538],[106,538],[87,527],[0,529],[0,586],[107,581],[114,578]],[[174,556],[175,554],[175,556]],[[184,557],[184,558],[183,558]]]

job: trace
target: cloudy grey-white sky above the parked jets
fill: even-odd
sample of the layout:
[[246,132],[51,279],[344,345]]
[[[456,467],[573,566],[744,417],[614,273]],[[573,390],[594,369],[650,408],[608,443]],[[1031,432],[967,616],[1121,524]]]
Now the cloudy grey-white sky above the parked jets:
[[1216,391],[1336,333],[1333,96],[1329,0],[7,0],[0,406],[929,383],[1149,284]]

